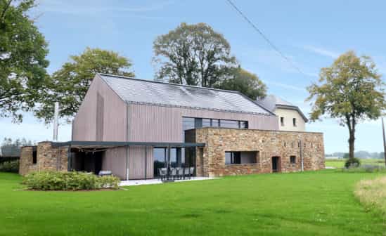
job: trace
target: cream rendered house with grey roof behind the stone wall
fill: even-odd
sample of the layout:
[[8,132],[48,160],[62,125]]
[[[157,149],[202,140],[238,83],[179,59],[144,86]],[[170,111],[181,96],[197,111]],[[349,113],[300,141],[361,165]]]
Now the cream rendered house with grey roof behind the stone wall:
[[265,107],[278,116],[278,129],[281,131],[305,131],[308,122],[302,110],[278,96],[269,95],[256,100],[256,103]]

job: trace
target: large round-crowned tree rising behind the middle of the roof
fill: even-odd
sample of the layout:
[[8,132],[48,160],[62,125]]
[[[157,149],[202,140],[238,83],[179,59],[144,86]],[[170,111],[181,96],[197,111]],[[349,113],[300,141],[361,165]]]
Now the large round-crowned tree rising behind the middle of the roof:
[[176,84],[219,86],[236,67],[228,41],[205,23],[181,23],[157,37],[153,50],[159,66],[155,79]]

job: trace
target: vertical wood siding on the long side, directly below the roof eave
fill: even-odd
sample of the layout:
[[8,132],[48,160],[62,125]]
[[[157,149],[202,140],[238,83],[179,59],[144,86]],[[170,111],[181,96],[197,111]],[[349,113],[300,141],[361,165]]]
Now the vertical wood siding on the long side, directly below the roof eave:
[[249,129],[278,130],[276,116],[217,112],[155,105],[129,105],[129,140],[141,142],[182,142],[182,117],[234,119],[248,122]]

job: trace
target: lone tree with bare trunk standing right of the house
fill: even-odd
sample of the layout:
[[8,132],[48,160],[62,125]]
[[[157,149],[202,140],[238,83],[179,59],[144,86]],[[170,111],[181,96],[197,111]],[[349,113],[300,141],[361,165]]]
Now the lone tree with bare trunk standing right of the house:
[[324,114],[337,118],[349,131],[349,158],[354,159],[356,125],[364,119],[378,119],[385,110],[385,84],[368,56],[353,51],[340,55],[330,67],[321,69],[320,84],[308,87],[315,98],[311,121]]

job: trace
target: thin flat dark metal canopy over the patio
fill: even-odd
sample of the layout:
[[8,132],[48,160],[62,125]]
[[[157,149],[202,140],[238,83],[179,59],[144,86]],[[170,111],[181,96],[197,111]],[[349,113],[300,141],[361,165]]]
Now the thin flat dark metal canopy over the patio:
[[68,141],[54,142],[53,147],[120,147],[120,146],[150,146],[150,147],[205,147],[205,143],[165,143],[165,142],[114,142],[114,141]]

